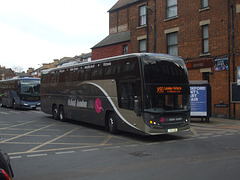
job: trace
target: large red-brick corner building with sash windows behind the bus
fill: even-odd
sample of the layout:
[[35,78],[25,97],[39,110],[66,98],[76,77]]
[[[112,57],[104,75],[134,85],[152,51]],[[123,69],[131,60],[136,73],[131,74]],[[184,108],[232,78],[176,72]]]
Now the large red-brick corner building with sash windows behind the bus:
[[240,0],[119,0],[92,59],[134,52],[181,56],[190,80],[210,83],[212,115],[240,118]]

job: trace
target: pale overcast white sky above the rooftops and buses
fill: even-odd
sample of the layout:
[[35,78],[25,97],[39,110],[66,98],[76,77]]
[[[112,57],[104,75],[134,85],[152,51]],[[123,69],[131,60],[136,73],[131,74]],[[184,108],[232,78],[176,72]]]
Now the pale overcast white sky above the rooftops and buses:
[[0,65],[27,71],[91,52],[118,0],[0,0]]

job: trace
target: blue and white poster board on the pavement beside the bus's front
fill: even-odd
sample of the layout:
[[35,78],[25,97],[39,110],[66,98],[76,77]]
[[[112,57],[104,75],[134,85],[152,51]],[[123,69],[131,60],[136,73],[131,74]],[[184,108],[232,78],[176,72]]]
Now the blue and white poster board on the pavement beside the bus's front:
[[208,81],[190,81],[191,118],[209,122],[211,109],[211,86]]

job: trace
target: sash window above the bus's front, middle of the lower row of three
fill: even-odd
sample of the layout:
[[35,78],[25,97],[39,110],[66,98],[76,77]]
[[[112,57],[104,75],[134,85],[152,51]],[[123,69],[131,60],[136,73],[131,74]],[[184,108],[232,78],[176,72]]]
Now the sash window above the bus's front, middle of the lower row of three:
[[178,37],[177,32],[167,34],[167,53],[178,55]]

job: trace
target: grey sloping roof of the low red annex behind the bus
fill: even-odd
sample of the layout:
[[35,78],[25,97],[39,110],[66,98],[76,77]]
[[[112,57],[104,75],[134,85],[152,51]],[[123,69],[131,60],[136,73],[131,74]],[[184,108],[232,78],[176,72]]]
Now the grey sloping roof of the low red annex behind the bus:
[[103,39],[98,44],[96,44],[94,47],[92,47],[92,49],[103,47],[103,46],[108,46],[108,45],[113,45],[113,44],[118,44],[118,43],[123,43],[123,42],[127,42],[127,41],[130,41],[130,31],[129,30],[108,35],[105,39]]

